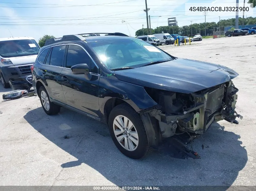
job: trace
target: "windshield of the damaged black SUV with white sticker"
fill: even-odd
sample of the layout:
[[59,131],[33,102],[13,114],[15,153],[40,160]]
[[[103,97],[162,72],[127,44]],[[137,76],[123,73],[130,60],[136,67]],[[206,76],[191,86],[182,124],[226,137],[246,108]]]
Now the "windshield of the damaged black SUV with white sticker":
[[92,42],[89,46],[108,69],[137,68],[151,62],[173,60],[155,46],[136,38]]

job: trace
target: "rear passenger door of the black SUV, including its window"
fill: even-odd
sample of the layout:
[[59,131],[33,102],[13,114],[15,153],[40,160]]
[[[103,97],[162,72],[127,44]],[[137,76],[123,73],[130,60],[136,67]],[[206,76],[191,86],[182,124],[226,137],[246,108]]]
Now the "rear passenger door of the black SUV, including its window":
[[41,79],[45,84],[49,97],[62,103],[66,103],[61,79],[66,47],[67,45],[53,46],[40,68]]

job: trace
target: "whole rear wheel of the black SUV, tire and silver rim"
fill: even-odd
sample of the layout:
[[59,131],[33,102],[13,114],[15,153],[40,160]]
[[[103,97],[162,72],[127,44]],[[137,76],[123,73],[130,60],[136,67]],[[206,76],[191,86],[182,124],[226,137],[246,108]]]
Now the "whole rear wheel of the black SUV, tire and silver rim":
[[38,97],[40,98],[40,102],[42,107],[47,115],[56,115],[60,112],[61,107],[52,103],[49,99],[49,95],[45,89],[45,87],[41,86],[38,91]]

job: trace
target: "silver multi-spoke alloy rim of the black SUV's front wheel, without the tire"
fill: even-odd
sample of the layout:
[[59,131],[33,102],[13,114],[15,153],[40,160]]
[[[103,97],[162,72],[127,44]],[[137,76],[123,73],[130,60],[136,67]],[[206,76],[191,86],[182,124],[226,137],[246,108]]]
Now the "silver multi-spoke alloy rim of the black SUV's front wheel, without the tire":
[[119,144],[128,151],[134,151],[138,147],[138,132],[126,116],[118,115],[113,122],[115,137]]

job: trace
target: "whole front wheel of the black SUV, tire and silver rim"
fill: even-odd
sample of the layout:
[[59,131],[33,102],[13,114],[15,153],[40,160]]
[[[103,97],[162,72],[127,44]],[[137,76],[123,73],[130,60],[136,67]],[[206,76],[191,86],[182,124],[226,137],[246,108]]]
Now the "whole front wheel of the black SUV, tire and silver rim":
[[141,117],[129,105],[120,104],[111,110],[108,128],[116,147],[125,156],[139,159],[152,150]]

